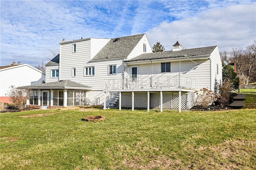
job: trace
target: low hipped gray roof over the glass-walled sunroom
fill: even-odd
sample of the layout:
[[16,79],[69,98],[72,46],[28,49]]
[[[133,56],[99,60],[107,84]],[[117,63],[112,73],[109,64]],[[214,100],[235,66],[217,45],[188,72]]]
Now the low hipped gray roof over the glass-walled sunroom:
[[27,85],[18,87],[18,89],[80,89],[80,90],[88,90],[92,89],[87,85],[82,85],[80,83],[76,83],[70,80],[61,80],[50,83],[40,83],[36,85]]

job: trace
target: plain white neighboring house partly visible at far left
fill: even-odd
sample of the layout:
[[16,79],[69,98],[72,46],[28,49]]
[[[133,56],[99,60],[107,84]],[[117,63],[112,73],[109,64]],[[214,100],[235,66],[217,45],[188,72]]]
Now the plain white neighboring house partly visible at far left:
[[28,64],[14,61],[12,65],[0,67],[0,101],[11,103],[8,97],[10,86],[35,85],[45,80],[45,73]]

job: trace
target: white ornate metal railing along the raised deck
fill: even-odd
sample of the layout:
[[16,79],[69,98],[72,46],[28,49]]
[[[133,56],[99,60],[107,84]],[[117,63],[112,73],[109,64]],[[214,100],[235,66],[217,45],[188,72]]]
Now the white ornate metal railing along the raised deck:
[[183,76],[137,77],[124,79],[106,79],[106,89],[194,89],[195,80]]

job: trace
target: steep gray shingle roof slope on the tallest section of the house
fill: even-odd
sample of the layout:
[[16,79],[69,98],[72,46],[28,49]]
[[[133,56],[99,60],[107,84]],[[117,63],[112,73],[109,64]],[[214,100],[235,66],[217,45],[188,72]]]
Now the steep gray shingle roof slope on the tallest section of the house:
[[91,61],[100,59],[126,58],[145,34],[112,38]]

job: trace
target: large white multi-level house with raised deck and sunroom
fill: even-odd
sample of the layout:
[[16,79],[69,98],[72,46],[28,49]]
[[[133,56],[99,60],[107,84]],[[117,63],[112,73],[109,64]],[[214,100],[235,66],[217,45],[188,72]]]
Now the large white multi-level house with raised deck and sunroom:
[[46,64],[46,83],[21,88],[41,93],[43,109],[92,104],[187,110],[195,90],[214,91],[221,83],[221,66],[217,46],[181,49],[176,42],[173,51],[152,53],[146,34],[63,40],[60,54]]

